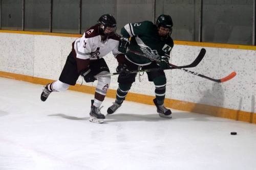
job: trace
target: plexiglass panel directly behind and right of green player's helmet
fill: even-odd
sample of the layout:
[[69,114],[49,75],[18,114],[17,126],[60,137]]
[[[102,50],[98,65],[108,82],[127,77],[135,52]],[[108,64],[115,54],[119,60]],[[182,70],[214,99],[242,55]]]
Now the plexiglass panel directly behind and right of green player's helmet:
[[156,18],[161,14],[170,15],[173,19],[173,39],[199,41],[199,0],[158,0]]

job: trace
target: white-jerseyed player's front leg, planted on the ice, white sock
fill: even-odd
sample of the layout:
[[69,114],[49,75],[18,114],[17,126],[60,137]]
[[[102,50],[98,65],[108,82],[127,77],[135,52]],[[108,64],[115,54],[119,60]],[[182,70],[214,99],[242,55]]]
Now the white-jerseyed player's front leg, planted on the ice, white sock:
[[[91,61],[90,69],[93,76],[105,75],[110,72],[108,65],[103,58],[95,61]],[[99,77],[97,78],[97,86],[94,94],[94,100],[91,101],[90,121],[95,123],[103,123],[105,116],[100,112],[100,105],[105,99],[106,92],[109,89],[111,77]]]

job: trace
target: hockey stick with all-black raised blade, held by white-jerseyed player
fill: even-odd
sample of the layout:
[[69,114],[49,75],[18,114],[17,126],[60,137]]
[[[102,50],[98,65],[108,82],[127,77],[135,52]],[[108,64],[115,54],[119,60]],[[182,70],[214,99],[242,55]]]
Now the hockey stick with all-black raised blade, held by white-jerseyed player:
[[[204,58],[205,53],[206,53],[205,49],[202,48],[200,53],[198,54],[197,58],[191,64],[183,65],[183,66],[176,66],[176,68],[175,67],[169,67],[167,69],[177,69],[178,67],[179,68],[196,67],[202,61],[202,59]],[[157,71],[157,70],[161,70],[161,68],[134,70],[134,71],[130,71],[129,74],[136,73],[136,72],[147,72],[147,71]],[[120,75],[120,72],[114,72],[114,73],[109,73],[109,74],[105,74],[105,75],[96,75],[94,77],[98,78],[98,77],[114,76],[114,75]]]

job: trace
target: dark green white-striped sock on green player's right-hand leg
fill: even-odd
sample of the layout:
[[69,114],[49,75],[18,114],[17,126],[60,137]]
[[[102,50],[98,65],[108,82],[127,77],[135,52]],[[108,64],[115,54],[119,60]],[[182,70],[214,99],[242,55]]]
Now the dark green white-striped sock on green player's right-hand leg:
[[155,94],[158,105],[163,105],[166,91],[166,78],[165,76],[159,76],[154,79]]

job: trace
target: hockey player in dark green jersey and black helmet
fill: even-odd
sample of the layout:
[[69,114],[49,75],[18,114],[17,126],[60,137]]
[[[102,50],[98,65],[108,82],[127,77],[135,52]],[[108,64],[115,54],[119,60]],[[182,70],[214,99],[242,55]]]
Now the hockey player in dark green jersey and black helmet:
[[[118,89],[116,101],[107,110],[114,113],[122,104],[125,96],[135,82],[135,74],[131,70],[159,68],[157,71],[146,72],[148,81],[154,82],[156,98],[153,100],[161,117],[172,118],[172,112],[164,107],[166,77],[163,69],[168,67],[169,54],[174,46],[172,33],[173,21],[169,15],[160,15],[156,25],[151,21],[128,23],[121,29],[122,38],[118,50],[125,58],[117,57]],[[136,53],[147,57],[141,57]],[[151,58],[151,59],[149,59]],[[154,61],[158,59],[160,62]]]

